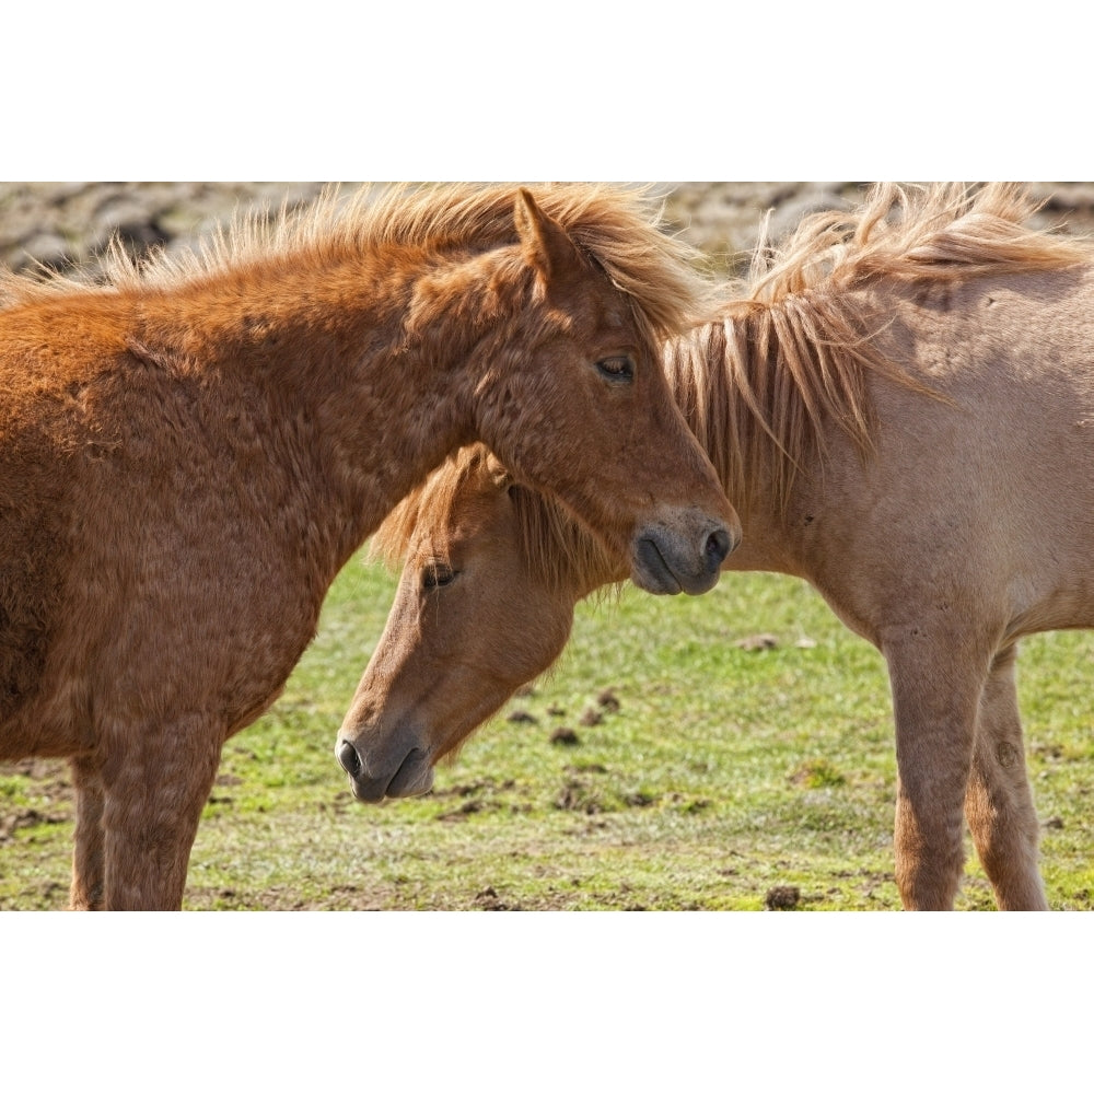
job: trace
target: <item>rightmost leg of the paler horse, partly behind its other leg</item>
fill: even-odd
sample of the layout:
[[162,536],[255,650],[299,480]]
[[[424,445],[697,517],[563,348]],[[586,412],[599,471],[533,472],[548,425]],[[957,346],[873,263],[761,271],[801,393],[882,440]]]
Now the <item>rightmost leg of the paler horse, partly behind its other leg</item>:
[[1016,647],[991,665],[980,698],[965,818],[1001,909],[1048,908],[1037,866],[1039,829],[1026,775],[1014,684]]

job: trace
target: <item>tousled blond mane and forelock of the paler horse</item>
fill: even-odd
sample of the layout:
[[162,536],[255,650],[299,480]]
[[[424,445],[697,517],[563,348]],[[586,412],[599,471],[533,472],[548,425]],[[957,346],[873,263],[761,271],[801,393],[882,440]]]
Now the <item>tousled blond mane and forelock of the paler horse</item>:
[[[664,348],[676,401],[742,515],[756,503],[761,476],[771,503],[785,510],[795,476],[811,456],[824,456],[827,422],[869,458],[870,372],[940,397],[875,349],[886,316],[860,315],[861,301],[848,294],[886,280],[958,282],[1090,261],[1090,242],[1027,226],[1038,208],[1014,183],[884,183],[856,210],[805,218],[779,248],[768,243],[765,218],[749,274],[723,287],[714,321]],[[405,555],[416,521],[443,526],[473,463],[461,454],[405,499],[374,540],[389,562]],[[514,500],[522,555],[536,573],[584,585],[618,572],[557,501],[528,490]]]

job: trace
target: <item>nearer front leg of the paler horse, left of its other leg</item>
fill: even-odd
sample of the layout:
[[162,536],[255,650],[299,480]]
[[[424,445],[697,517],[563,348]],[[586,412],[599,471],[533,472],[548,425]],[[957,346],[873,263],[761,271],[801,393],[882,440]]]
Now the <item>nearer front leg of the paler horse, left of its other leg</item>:
[[884,653],[899,772],[897,888],[905,908],[950,910],[965,863],[963,806],[988,657],[915,630]]

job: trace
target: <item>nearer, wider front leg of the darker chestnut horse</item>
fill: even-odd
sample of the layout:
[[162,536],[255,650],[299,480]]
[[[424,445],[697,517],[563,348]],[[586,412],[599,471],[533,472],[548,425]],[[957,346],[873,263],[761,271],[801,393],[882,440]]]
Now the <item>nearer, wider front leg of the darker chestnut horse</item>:
[[106,907],[177,911],[224,734],[198,715],[129,731],[103,765]]

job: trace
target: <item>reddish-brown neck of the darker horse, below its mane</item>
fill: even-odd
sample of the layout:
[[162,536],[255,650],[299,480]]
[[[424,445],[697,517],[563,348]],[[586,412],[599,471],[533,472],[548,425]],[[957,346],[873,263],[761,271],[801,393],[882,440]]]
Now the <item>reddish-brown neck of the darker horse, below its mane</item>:
[[485,256],[408,248],[253,264],[149,293],[130,348],[260,414],[268,449],[322,480],[348,557],[474,439],[478,331],[453,312],[489,277]]

